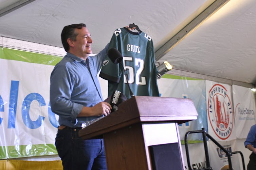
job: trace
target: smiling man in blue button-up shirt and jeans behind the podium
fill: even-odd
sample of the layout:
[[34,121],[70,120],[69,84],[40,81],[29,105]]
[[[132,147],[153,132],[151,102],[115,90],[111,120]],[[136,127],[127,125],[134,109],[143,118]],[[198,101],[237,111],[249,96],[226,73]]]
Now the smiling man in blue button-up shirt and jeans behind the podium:
[[89,56],[93,41],[85,24],[65,26],[61,41],[67,55],[54,67],[50,86],[51,109],[60,124],[56,149],[64,170],[106,170],[103,139],[82,140],[78,131],[82,123],[110,113],[97,79],[108,45]]

